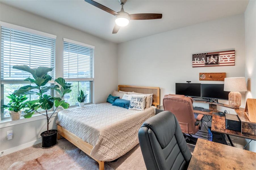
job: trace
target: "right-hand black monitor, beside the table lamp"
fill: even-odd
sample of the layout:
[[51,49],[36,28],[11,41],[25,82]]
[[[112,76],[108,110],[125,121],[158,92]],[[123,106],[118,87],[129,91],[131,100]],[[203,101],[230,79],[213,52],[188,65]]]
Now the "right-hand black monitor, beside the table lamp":
[[224,91],[224,84],[201,84],[202,98],[228,100],[229,92]]

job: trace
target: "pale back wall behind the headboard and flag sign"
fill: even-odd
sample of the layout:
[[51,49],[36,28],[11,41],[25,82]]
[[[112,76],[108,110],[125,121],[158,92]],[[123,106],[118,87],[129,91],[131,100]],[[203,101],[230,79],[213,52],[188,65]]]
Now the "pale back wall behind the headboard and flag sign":
[[[241,14],[118,44],[118,84],[160,87],[162,103],[176,82],[200,82],[200,72],[244,76],[243,23]],[[192,68],[192,54],[224,50],[236,50],[235,66]]]

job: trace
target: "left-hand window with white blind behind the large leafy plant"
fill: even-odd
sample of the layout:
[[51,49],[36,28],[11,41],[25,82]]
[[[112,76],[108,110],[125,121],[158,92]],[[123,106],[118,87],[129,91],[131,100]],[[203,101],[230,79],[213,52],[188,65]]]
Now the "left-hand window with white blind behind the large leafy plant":
[[[30,73],[12,69],[12,66],[55,67],[55,40],[55,35],[1,22],[1,105],[9,102],[8,94],[29,85],[23,81],[25,78],[32,77]],[[55,69],[49,74],[54,78]],[[36,96],[27,97],[33,100]],[[8,117],[8,110],[2,110],[1,118]]]

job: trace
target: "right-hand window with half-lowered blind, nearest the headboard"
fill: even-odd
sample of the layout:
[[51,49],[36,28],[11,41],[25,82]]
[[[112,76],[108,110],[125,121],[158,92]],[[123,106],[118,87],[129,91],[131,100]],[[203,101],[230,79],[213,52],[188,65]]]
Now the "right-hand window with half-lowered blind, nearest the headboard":
[[63,75],[72,84],[72,92],[66,94],[65,100],[70,106],[78,105],[77,97],[80,90],[87,94],[85,103],[92,101],[92,82],[94,80],[94,46],[64,40]]

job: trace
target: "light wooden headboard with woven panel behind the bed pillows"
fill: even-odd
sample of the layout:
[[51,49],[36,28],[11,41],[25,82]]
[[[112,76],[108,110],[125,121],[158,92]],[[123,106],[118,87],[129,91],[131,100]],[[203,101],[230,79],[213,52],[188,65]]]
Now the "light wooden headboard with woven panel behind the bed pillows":
[[144,87],[144,86],[127,86],[118,85],[118,91],[123,92],[136,92],[143,94],[153,94],[153,103],[156,107],[160,105],[160,88],[159,87]]

